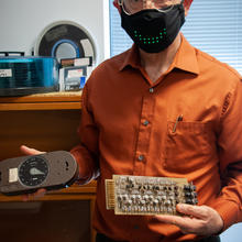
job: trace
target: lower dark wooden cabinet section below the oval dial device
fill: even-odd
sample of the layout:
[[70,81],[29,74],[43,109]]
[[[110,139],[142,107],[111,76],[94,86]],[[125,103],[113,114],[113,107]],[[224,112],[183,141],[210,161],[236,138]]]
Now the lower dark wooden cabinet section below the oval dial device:
[[[95,242],[96,231],[91,229],[95,200],[96,182],[47,191],[45,196],[29,201],[23,201],[22,196],[0,195],[0,216],[3,218],[0,226],[4,232],[1,240]],[[48,222],[51,218],[54,223]],[[43,224],[43,221],[46,222]],[[28,235],[20,229],[23,224],[31,228]],[[46,234],[36,238],[40,228]]]

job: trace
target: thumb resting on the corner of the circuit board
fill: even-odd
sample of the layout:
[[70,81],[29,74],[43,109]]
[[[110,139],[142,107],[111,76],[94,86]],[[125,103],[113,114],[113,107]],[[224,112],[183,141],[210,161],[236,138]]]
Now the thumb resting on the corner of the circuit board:
[[177,211],[187,216],[193,216],[199,219],[206,219],[208,217],[208,208],[206,206],[195,206],[178,204]]

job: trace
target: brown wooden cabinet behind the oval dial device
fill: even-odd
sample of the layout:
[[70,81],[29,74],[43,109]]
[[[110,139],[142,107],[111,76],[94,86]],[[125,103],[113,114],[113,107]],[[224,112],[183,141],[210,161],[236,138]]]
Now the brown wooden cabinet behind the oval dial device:
[[[1,97],[0,161],[23,155],[20,153],[22,144],[46,152],[69,151],[79,140],[80,97],[81,92]],[[50,191],[43,198],[28,202],[20,196],[0,195],[1,240],[95,241],[90,226],[95,197],[95,182]],[[14,233],[22,227],[23,232]]]

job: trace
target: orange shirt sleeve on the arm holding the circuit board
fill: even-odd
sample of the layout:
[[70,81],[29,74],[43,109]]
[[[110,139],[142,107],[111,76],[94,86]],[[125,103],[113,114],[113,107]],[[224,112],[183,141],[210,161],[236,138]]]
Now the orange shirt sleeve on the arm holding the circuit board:
[[224,222],[223,230],[242,221],[242,82],[228,92],[221,110],[218,136],[221,193],[211,206]]

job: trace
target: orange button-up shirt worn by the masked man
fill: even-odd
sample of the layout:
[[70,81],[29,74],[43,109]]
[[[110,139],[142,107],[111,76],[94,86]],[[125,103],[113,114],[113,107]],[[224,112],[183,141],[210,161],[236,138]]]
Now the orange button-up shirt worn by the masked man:
[[135,45],[99,65],[82,92],[79,136],[72,154],[82,183],[100,170],[94,218],[98,232],[132,242],[195,239],[152,216],[107,210],[105,179],[113,174],[186,177],[197,186],[199,205],[215,208],[224,229],[241,221],[241,77],[184,36],[156,82],[142,68]]

